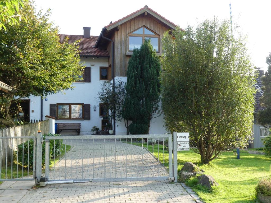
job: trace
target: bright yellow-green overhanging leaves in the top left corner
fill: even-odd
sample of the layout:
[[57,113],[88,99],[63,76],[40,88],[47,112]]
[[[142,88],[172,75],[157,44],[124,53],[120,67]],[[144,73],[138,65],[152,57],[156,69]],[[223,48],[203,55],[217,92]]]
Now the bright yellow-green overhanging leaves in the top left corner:
[[25,2],[28,0],[0,0],[0,30],[7,29],[5,24],[15,25],[21,21],[20,9]]

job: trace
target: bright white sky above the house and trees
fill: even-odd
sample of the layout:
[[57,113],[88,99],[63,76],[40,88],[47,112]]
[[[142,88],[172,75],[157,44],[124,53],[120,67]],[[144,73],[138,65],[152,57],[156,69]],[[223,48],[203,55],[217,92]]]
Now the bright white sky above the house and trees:
[[[181,28],[207,18],[230,18],[230,0],[36,0],[35,4],[38,10],[51,9],[50,20],[59,26],[60,34],[82,35],[83,27],[91,27],[91,35],[99,35],[110,21],[117,21],[145,5]],[[247,48],[254,66],[267,70],[266,57],[271,52],[271,1],[231,0],[231,8],[233,23],[247,35]]]

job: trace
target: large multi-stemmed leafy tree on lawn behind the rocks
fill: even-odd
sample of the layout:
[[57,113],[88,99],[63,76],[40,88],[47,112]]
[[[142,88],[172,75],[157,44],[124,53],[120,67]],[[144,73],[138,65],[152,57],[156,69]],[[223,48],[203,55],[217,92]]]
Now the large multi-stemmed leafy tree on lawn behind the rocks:
[[228,21],[214,19],[163,38],[165,125],[189,132],[203,163],[230,147],[245,147],[252,134],[253,66],[244,38],[230,33]]

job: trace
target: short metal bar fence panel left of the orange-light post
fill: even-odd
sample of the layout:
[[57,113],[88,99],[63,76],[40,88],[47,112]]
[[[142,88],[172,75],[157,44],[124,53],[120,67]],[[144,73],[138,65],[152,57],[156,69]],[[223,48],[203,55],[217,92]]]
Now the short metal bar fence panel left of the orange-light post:
[[0,137],[0,181],[35,180],[36,136]]

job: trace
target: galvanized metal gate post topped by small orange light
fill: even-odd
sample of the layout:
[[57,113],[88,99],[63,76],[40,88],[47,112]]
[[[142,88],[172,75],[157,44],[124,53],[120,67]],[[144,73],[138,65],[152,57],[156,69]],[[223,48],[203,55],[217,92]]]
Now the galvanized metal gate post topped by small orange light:
[[39,131],[37,133],[37,147],[36,147],[36,184],[40,182],[41,178],[41,156],[42,156],[42,135]]

